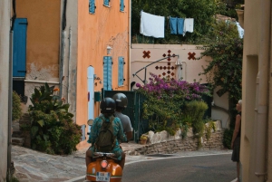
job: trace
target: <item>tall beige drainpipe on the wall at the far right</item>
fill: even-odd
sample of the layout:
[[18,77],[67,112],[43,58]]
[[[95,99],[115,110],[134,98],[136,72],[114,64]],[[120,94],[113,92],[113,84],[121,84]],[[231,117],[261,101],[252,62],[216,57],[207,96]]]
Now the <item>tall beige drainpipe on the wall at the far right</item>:
[[[257,129],[256,136],[256,161],[254,181],[263,182],[267,175],[266,157],[267,157],[267,101],[268,101],[268,64],[269,64],[269,40],[270,40],[270,1],[260,1],[260,41],[258,50],[257,75],[258,94],[257,94]],[[246,10],[247,11],[247,10]]]

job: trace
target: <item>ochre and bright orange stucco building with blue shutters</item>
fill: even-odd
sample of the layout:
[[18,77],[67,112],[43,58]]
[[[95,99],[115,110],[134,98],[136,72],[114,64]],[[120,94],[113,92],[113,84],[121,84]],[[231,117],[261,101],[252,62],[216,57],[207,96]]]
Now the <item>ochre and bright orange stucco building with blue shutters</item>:
[[48,82],[86,133],[99,114],[94,92],[129,90],[130,7],[129,0],[15,1],[13,77],[24,112],[34,88]]

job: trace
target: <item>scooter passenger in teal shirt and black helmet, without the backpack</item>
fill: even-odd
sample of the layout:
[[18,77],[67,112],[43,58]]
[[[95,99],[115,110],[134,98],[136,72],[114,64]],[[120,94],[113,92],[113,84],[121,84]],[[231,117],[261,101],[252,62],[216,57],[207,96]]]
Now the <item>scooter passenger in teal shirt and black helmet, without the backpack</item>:
[[[96,147],[95,142],[98,138],[99,132],[102,128],[102,122],[103,120],[110,121],[111,116],[113,116],[114,111],[116,109],[115,101],[112,100],[112,98],[104,98],[101,102],[100,109],[102,112],[102,115],[97,117],[95,120],[93,120],[92,128],[90,137],[88,139],[88,143],[91,143],[92,146],[88,148],[86,151],[86,167],[92,162],[92,155],[94,152],[99,152],[99,149]],[[121,168],[124,167],[125,162],[125,154],[122,152],[122,149],[120,148],[120,142],[127,141],[125,134],[123,133],[121,120],[117,117],[112,120],[112,127],[113,127],[113,136],[115,139],[115,145],[112,148],[111,153],[115,154],[114,158],[117,158],[118,164],[121,166]]]

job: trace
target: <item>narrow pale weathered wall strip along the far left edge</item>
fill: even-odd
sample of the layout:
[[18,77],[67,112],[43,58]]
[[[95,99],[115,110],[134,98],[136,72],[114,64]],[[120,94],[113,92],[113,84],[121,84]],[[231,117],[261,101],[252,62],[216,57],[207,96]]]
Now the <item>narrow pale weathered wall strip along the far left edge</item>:
[[0,1],[0,182],[7,172],[10,1]]

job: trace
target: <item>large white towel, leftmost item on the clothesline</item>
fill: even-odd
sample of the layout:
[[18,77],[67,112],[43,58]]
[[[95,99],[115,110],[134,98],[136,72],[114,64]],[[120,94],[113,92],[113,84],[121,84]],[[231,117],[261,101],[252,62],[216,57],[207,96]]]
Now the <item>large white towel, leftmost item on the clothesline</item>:
[[141,11],[140,33],[145,36],[164,38],[164,16],[147,14]]

